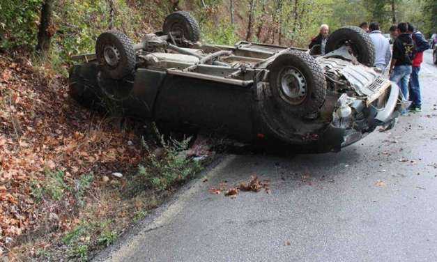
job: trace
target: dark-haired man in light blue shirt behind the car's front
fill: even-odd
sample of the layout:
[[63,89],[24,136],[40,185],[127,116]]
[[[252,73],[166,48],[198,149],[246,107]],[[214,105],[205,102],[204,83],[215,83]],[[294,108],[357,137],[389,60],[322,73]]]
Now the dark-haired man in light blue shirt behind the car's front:
[[392,53],[390,52],[390,43],[388,38],[385,38],[381,31],[379,30],[379,24],[377,22],[371,22],[369,25],[369,36],[371,42],[375,46],[375,67],[379,68],[385,72],[390,59],[392,58]]

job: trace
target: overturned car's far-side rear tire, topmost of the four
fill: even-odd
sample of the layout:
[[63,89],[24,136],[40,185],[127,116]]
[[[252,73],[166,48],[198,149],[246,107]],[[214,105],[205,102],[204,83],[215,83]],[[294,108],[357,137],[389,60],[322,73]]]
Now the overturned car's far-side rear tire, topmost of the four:
[[190,13],[185,11],[178,11],[168,15],[162,25],[162,32],[164,34],[178,32],[181,34],[179,37],[190,40],[193,43],[200,39],[199,23]]

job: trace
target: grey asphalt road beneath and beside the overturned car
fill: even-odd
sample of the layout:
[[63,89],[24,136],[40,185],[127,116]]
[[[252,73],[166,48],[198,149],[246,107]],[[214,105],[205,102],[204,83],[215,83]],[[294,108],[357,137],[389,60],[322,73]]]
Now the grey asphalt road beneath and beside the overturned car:
[[[108,261],[437,261],[437,66],[423,111],[340,153],[229,155],[100,254]],[[270,194],[210,194],[256,174]]]

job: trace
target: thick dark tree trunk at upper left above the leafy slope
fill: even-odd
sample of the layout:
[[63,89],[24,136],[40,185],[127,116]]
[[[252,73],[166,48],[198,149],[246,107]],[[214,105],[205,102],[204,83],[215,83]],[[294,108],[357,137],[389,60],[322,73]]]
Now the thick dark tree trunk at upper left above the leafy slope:
[[43,56],[49,52],[50,38],[52,38],[54,32],[49,30],[52,25],[53,15],[53,2],[54,0],[45,0],[43,7],[41,8],[40,26],[38,26],[38,44],[36,45],[36,51],[40,52]]

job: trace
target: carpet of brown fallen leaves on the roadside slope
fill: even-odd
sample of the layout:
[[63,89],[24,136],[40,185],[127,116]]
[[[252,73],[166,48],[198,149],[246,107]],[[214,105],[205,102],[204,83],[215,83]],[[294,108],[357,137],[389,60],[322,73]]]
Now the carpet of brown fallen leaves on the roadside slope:
[[0,57],[0,245],[36,229],[47,209],[61,210],[34,199],[45,172],[74,183],[82,174],[121,174],[142,157],[138,137],[91,116],[66,95],[65,79],[42,79],[28,64]]

